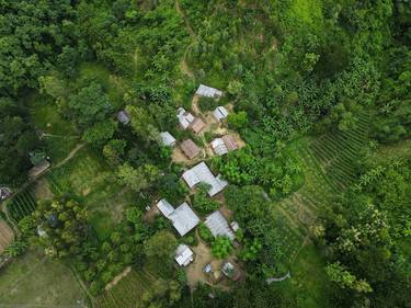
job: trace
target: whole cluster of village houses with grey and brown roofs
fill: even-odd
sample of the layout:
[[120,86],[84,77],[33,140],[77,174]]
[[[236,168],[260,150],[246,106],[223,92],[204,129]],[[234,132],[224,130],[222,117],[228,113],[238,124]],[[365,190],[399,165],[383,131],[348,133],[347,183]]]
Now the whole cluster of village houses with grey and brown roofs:
[[[199,98],[214,99],[218,101],[221,96],[222,92],[220,90],[199,84],[194,94],[193,111],[198,110],[198,107],[194,107],[194,103],[196,103]],[[186,111],[184,107],[179,107],[175,113],[179,128],[182,130],[190,130],[192,134],[198,136],[198,138],[203,138],[203,140],[205,132],[212,130],[210,133],[214,133],[214,130],[210,129],[212,125],[224,127],[228,115],[229,111],[222,105],[217,106],[208,114],[207,117],[203,114],[193,114],[193,112]],[[117,121],[123,125],[128,125],[132,118],[126,111],[119,111],[117,113]],[[206,162],[203,161],[203,159],[207,157],[206,151],[202,149],[202,147],[199,147],[192,138],[178,140],[172,134],[170,134],[170,132],[161,132],[159,134],[159,141],[163,147],[170,147],[173,148],[174,151],[181,151],[181,153],[183,153],[186,158],[184,164],[187,168],[182,173],[181,178],[191,190],[195,190],[199,184],[205,183],[208,187],[208,196],[214,197],[222,192],[222,190],[228,185],[227,181],[225,181],[220,174],[213,174]],[[220,129],[219,134],[217,134],[217,136],[207,144],[209,149],[213,151],[212,153],[208,151],[208,156],[224,156],[229,151],[239,149],[239,144],[236,136],[229,133],[227,129]],[[158,201],[155,206],[158,213],[162,214],[171,221],[172,226],[181,237],[184,237],[194,230],[198,224],[202,223],[201,218],[186,202],[175,207],[167,199],[162,198]],[[149,210],[150,207],[147,209]],[[207,226],[214,237],[224,236],[227,237],[235,246],[237,244],[235,241],[236,231],[238,231],[240,227],[236,221],[231,221],[229,224],[220,210],[209,214],[207,217],[205,217],[203,223],[205,226]],[[195,253],[187,244],[181,243],[175,250],[175,261],[180,266],[189,266],[195,261]],[[238,280],[240,276],[240,272],[232,264],[232,262],[226,261],[218,267],[219,269],[213,269],[212,263],[207,263],[204,265],[203,273],[214,277],[213,281],[219,281],[221,274],[233,281]]]

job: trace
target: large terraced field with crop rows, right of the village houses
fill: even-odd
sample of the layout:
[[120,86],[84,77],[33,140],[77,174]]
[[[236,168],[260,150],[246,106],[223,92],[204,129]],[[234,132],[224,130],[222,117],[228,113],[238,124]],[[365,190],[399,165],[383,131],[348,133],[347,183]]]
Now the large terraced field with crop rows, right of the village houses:
[[344,133],[328,133],[317,139],[298,140],[293,145],[305,172],[304,186],[274,204],[273,212],[282,217],[286,239],[284,251],[289,260],[296,258],[298,247],[308,239],[320,205],[327,205],[332,194],[342,193],[356,175],[355,160],[367,144],[368,116],[359,115],[357,126]]

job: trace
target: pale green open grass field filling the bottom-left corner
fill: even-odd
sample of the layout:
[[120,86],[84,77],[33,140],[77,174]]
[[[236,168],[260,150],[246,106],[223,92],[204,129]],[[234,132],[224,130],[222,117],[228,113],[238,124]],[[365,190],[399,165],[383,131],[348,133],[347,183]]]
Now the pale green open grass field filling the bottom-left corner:
[[71,271],[28,251],[0,271],[0,307],[88,307]]

